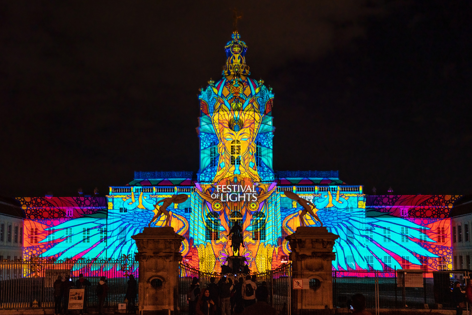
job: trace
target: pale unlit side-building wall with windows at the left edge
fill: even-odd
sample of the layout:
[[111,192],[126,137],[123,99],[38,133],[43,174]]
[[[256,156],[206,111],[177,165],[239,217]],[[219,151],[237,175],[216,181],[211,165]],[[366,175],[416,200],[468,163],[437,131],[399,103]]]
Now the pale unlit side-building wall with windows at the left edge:
[[23,219],[0,213],[0,260],[22,259]]

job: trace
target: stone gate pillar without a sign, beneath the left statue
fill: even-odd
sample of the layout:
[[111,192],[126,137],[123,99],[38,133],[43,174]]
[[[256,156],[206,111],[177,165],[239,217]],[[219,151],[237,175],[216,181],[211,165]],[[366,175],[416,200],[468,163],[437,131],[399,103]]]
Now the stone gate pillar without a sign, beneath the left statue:
[[184,237],[174,228],[144,228],[133,235],[138,247],[139,314],[172,315],[177,313],[178,264]]

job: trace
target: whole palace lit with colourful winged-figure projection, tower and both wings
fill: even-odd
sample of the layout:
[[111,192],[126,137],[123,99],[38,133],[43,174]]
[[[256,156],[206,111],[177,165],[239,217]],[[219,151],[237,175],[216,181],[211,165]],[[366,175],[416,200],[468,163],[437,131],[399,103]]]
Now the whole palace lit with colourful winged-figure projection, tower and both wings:
[[[243,227],[244,255],[253,271],[287,260],[285,236],[300,226],[302,207],[290,190],[315,205],[336,241],[338,270],[452,267],[449,211],[459,196],[366,196],[362,186],[346,185],[337,171],[274,171],[272,107],[274,94],[250,78],[247,45],[237,32],[225,46],[219,81],[199,95],[200,169],[193,172],[135,172],[106,198],[17,198],[26,213],[27,233],[38,229],[38,243],[25,243],[25,257],[118,258],[133,255],[130,238],[157,210],[156,201],[187,194],[168,208],[171,226],[185,237],[184,262],[202,271],[219,271],[233,255],[228,231]],[[307,226],[319,225],[307,214]],[[156,226],[164,224],[160,217]]]

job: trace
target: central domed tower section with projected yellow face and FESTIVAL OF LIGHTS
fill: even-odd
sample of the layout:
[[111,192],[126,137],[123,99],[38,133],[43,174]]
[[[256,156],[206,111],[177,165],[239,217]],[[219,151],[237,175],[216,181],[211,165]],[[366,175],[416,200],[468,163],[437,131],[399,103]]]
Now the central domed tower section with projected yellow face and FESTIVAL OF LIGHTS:
[[[258,255],[264,263],[257,264],[257,270],[270,269],[273,248],[280,237],[272,169],[274,94],[263,85],[264,81],[249,77],[247,45],[237,31],[226,43],[225,51],[221,79],[208,81],[198,97],[200,169],[192,208],[198,209],[195,215],[202,216],[196,221],[205,222],[205,226],[190,230],[199,248],[200,270],[213,271],[218,261],[226,264],[226,256],[233,255],[226,235],[235,221],[243,227],[246,246],[240,255],[247,257],[253,270]],[[202,229],[205,235],[197,235]],[[263,258],[258,254],[260,249]],[[203,251],[208,255],[201,254]],[[213,254],[216,260],[208,263]]]

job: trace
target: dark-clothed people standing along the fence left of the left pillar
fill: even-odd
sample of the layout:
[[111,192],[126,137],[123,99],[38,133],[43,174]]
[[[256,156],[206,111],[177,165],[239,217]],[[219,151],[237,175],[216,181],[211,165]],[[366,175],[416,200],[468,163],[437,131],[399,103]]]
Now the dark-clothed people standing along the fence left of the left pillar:
[[[137,286],[135,277],[131,274],[129,275],[129,280],[127,282],[128,286],[126,289],[126,299],[128,301],[127,310],[129,313],[135,314],[135,300],[137,295]],[[53,284],[53,295],[54,295],[54,315],[67,314],[68,313],[68,303],[69,303],[69,291],[70,289],[84,289],[84,307],[79,310],[79,314],[88,314],[87,312],[87,301],[88,296],[92,294],[91,292],[92,283],[84,278],[84,274],[79,274],[79,279],[74,283],[72,279],[66,278],[62,279],[62,276],[58,276],[57,280]],[[99,314],[103,314],[103,305],[105,299],[108,296],[110,288],[107,284],[107,278],[101,277],[95,288],[95,295],[98,298],[98,311]]]

